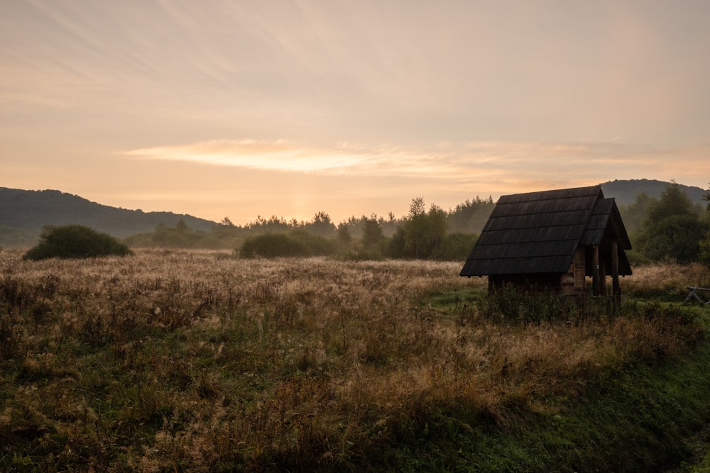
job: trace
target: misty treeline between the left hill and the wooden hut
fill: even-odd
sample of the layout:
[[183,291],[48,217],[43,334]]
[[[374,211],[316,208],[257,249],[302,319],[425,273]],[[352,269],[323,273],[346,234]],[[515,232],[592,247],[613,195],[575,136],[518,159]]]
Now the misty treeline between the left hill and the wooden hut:
[[444,211],[422,197],[413,199],[409,213],[395,218],[351,216],[334,223],[324,211],[311,221],[258,216],[246,226],[229,217],[209,231],[195,230],[185,221],[174,227],[158,225],[153,232],[124,239],[132,247],[231,249],[244,257],[335,255],[349,259],[386,257],[461,260],[471,251],[493,211],[493,199],[476,196]]

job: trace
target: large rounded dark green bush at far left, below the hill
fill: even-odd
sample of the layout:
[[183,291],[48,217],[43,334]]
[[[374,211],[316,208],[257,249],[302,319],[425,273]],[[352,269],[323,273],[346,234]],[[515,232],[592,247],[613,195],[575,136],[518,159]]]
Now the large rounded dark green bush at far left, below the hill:
[[130,248],[107,233],[99,233],[82,225],[46,226],[40,233],[40,243],[23,255],[23,260],[47,258],[89,258],[97,256],[131,255]]

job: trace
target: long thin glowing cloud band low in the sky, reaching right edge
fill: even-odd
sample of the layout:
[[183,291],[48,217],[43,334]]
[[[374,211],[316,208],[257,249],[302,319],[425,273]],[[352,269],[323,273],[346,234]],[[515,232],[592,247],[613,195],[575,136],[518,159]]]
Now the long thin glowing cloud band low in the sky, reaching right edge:
[[[244,139],[141,148],[123,154],[143,160],[173,160],[271,172],[425,177],[432,182],[449,179],[449,182],[466,186],[471,185],[468,177],[475,177],[485,188],[497,189],[511,184],[516,188],[533,189],[539,187],[540,182],[549,186],[551,180],[560,184],[594,183],[607,176],[628,179],[639,175],[691,179],[710,173],[710,164],[706,162],[710,145],[652,150],[616,142],[482,141],[442,143],[412,151],[392,145],[368,148],[346,141],[324,147],[290,140]],[[679,161],[685,163],[684,167],[678,167]],[[555,179],[551,179],[552,175]]]

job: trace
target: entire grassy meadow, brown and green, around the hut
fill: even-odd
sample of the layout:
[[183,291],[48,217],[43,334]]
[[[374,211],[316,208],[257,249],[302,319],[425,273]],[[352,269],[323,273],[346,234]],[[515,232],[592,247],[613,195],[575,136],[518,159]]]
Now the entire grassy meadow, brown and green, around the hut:
[[663,471],[702,455],[709,309],[681,304],[710,286],[699,265],[635,269],[615,303],[489,295],[459,262],[21,256],[0,250],[5,471]]

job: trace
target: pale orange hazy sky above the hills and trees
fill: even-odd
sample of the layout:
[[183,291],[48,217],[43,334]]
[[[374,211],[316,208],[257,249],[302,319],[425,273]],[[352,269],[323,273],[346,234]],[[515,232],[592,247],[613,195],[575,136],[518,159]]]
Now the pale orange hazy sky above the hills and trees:
[[0,187],[242,225],[710,186],[706,0],[0,0]]

